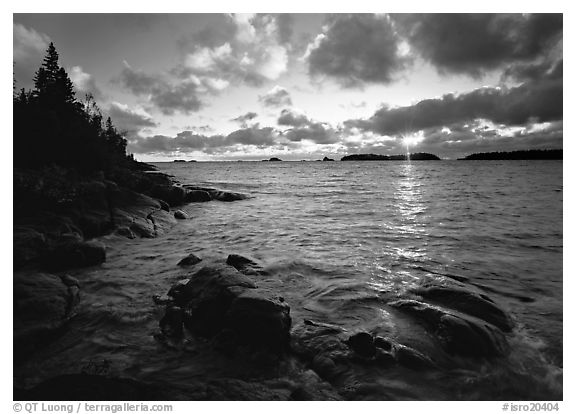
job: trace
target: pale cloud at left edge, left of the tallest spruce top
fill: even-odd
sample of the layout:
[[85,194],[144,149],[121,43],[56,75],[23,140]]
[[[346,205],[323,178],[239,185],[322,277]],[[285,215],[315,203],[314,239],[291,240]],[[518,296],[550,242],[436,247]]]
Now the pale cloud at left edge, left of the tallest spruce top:
[[44,33],[13,23],[14,77],[18,87],[30,88],[34,73],[42,64],[50,37]]

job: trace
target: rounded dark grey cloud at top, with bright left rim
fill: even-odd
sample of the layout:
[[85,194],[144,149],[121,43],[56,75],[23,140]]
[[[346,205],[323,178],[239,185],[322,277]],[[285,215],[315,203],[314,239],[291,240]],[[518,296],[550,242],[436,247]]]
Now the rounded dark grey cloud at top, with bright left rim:
[[407,63],[389,19],[367,14],[332,18],[308,55],[312,76],[326,75],[346,87],[391,83]]

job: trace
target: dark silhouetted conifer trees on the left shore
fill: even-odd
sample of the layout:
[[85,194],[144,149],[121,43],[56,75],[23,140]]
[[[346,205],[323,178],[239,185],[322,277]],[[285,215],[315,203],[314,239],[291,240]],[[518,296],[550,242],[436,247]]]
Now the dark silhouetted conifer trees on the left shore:
[[106,121],[91,95],[76,98],[74,85],[50,43],[34,76],[34,89],[14,93],[15,167],[57,165],[81,174],[132,165],[126,139]]

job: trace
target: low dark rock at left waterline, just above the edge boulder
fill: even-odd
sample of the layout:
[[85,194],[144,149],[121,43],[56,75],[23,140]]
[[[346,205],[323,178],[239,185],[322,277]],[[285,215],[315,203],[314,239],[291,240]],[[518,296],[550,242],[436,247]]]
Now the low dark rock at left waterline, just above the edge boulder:
[[106,261],[106,246],[96,241],[64,242],[57,244],[42,258],[50,271],[94,266]]

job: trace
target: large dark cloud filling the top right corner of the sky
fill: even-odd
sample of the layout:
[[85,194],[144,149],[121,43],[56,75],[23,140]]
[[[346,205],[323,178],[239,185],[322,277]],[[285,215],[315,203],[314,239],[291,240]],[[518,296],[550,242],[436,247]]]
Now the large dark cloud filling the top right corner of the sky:
[[412,48],[442,73],[481,76],[548,52],[562,38],[561,14],[396,14]]

